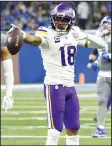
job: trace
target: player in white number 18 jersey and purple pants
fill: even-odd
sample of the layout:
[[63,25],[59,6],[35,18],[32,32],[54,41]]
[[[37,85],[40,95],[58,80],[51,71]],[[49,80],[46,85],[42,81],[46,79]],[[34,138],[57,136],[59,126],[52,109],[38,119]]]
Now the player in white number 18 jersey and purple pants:
[[[51,11],[51,27],[40,27],[35,36],[22,30],[25,43],[39,46],[46,75],[44,95],[47,104],[48,136],[46,145],[57,145],[63,122],[66,145],[79,145],[79,101],[74,84],[74,63],[77,45],[105,47],[103,39],[86,34],[74,26],[71,6],[59,4]],[[16,26],[9,30],[13,31]]]

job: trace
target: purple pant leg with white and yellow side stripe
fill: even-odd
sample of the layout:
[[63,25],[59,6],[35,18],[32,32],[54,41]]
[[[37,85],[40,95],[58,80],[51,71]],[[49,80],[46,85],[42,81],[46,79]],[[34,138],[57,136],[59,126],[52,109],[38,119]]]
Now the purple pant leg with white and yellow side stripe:
[[48,128],[62,131],[65,109],[64,88],[60,85],[45,85],[44,90],[47,104]]

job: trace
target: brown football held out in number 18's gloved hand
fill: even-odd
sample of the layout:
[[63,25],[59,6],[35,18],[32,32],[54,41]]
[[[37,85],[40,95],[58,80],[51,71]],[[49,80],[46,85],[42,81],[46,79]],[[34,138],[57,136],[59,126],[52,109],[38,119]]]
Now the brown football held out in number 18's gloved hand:
[[11,55],[18,53],[23,44],[23,36],[19,28],[15,28],[8,34],[6,44]]

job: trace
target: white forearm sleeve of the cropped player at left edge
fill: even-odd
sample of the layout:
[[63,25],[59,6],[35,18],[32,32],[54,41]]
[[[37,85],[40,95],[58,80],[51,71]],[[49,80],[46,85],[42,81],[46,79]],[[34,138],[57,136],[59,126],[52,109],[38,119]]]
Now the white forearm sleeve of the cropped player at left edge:
[[12,89],[14,84],[12,59],[7,59],[2,62],[4,68],[5,83],[6,83],[6,96],[12,96]]

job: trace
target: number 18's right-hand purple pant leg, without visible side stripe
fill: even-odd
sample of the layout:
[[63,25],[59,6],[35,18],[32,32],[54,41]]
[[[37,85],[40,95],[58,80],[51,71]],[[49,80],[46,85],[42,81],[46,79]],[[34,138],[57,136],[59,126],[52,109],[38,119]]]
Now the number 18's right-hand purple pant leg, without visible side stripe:
[[71,96],[65,102],[64,124],[69,130],[77,131],[80,128],[79,100],[75,88],[72,89]]

